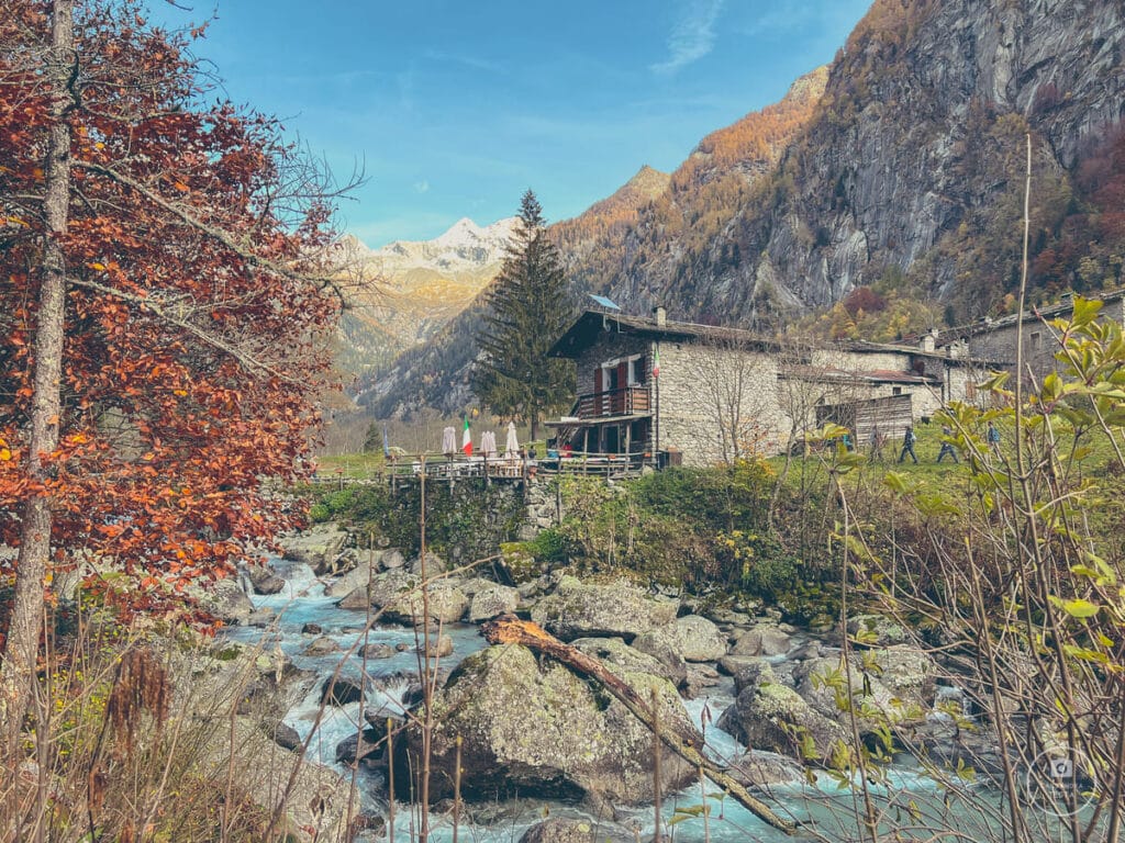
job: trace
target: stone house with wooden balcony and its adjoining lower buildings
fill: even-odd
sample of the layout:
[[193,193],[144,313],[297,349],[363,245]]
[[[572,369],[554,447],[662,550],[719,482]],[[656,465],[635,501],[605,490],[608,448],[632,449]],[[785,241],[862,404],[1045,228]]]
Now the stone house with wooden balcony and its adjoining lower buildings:
[[961,400],[983,368],[961,345],[816,345],[750,332],[586,310],[550,354],[574,360],[578,396],[548,422],[560,448],[706,465],[776,453],[832,419],[865,444]]

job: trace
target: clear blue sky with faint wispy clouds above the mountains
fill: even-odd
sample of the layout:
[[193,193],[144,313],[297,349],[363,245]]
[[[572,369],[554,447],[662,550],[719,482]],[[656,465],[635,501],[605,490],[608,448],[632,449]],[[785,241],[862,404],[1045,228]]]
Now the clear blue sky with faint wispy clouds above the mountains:
[[672,170],[709,132],[831,61],[871,0],[179,0],[226,96],[284,118],[340,178],[370,246],[460,217],[547,217]]

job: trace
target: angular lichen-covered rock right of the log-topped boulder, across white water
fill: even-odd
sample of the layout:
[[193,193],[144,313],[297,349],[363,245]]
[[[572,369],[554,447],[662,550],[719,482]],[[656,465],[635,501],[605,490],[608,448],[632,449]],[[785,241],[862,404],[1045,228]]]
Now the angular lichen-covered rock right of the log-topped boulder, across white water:
[[741,690],[718,726],[755,750],[818,762],[827,761],[846,735],[839,723],[777,681],[766,662],[762,663],[757,682]]

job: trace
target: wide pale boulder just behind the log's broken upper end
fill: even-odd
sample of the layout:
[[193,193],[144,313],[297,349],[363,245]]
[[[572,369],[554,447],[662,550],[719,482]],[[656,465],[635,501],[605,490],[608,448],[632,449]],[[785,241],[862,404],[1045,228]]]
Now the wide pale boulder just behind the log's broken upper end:
[[583,582],[564,577],[555,592],[531,610],[531,619],[562,641],[618,635],[630,642],[670,624],[678,608],[678,600],[655,599],[626,579]]

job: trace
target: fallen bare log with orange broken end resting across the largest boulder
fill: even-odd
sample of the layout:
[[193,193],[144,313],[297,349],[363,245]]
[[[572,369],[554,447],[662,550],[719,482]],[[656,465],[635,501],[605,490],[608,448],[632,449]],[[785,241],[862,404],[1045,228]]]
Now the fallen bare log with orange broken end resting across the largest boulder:
[[696,746],[694,733],[684,735],[675,728],[665,725],[654,717],[651,707],[641,699],[632,688],[605,669],[597,659],[593,659],[580,650],[564,644],[538,624],[521,620],[514,615],[501,615],[480,626],[485,640],[489,644],[519,644],[538,653],[549,655],[580,676],[588,677],[612,694],[628,708],[637,719],[652,729],[664,745],[684,759],[696,769],[702,769],[716,785],[732,796],[744,808],[774,828],[794,834],[798,825],[792,819],[777,816],[768,805],[755,798],[741,783],[728,776],[719,764],[702,753]]

